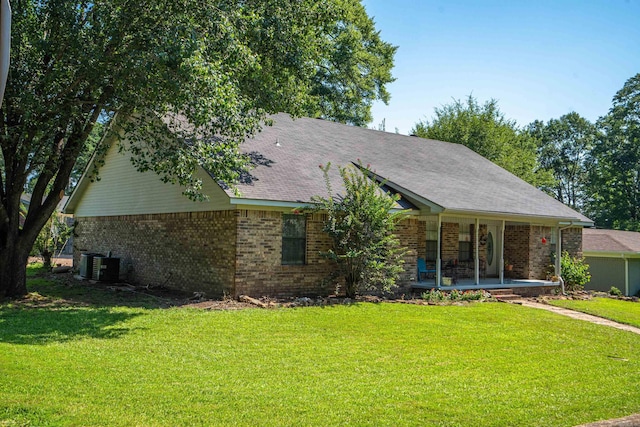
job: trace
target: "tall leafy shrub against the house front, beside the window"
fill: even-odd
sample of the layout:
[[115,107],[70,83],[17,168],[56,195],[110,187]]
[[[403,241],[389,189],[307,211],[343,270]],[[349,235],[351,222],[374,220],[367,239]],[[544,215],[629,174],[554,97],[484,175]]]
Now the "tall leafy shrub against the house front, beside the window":
[[344,193],[334,195],[329,170],[320,166],[327,197],[314,196],[314,211],[327,214],[324,232],[332,248],[323,253],[336,264],[348,297],[370,291],[390,292],[403,271],[404,248],[393,234],[404,217],[397,210],[397,194],[388,194],[368,167],[339,167]]

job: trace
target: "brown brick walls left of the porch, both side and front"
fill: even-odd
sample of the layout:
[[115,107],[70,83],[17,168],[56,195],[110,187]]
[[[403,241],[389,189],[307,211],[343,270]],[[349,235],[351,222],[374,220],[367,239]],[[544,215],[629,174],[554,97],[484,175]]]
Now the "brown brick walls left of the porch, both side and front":
[[[307,216],[305,265],[282,265],[282,212],[222,211],[79,218],[74,264],[82,252],[121,259],[122,280],[205,292],[209,297],[315,296],[336,291],[325,215]],[[422,230],[422,232],[420,232]],[[396,234],[407,247],[400,283],[415,278],[416,254],[424,251],[425,225],[407,219]],[[457,236],[456,236],[457,237]]]

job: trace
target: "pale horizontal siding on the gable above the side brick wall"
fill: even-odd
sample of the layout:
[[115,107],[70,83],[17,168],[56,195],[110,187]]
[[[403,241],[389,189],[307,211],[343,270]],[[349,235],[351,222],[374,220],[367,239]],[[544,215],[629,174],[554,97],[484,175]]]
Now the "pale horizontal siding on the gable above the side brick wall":
[[[84,192],[77,195],[80,197],[74,210],[76,217],[231,209],[229,196],[204,170],[199,171],[198,178],[209,200],[194,202],[182,194],[184,187],[165,184],[153,172],[138,172],[130,155],[118,152],[117,144],[107,152],[99,176],[99,181],[87,182]],[[84,178],[88,181],[88,177]]]

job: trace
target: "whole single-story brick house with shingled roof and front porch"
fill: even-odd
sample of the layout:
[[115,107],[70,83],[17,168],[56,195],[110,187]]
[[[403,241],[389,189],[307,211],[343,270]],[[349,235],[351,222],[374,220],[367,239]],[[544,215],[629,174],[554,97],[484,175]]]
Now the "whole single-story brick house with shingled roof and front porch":
[[[452,280],[484,288],[549,285],[544,281],[559,269],[554,251],[582,254],[588,218],[463,145],[283,113],[271,118],[272,126],[241,146],[255,168],[237,191],[199,172],[205,202],[137,172],[114,143],[101,179],[83,177],[66,205],[76,219],[76,265],[82,252],[111,252],[121,258],[122,278],[137,283],[207,295],[333,293],[331,266],[319,254],[330,243],[324,216],[295,214],[314,195],[326,195],[319,165],[327,162],[336,190],[337,166],[361,162],[401,195],[406,288]],[[419,258],[435,274],[418,277]]]

